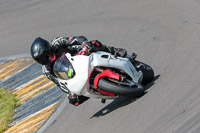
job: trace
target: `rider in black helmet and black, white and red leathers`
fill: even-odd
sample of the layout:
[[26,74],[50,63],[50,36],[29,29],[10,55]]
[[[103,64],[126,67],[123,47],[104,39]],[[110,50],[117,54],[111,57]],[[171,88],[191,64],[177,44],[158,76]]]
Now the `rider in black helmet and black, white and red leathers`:
[[127,50],[125,49],[108,47],[98,40],[88,41],[84,36],[57,37],[51,43],[41,37],[37,37],[33,41],[30,50],[32,58],[42,65],[43,74],[66,92],[69,103],[75,106],[83,103],[88,98],[78,96],[59,84],[57,77],[53,73],[53,64],[57,58],[65,53],[70,53],[72,56],[77,54],[89,55],[91,52],[96,51],[109,52],[120,57],[127,55]]

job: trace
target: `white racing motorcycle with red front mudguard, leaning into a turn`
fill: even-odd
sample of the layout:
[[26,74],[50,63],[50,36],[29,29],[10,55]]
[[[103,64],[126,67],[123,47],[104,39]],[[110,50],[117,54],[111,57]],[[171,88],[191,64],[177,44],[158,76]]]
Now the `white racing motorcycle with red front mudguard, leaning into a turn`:
[[84,97],[116,99],[140,97],[144,85],[154,78],[151,66],[137,61],[133,56],[125,58],[98,51],[85,55],[64,54],[53,67],[61,88]]

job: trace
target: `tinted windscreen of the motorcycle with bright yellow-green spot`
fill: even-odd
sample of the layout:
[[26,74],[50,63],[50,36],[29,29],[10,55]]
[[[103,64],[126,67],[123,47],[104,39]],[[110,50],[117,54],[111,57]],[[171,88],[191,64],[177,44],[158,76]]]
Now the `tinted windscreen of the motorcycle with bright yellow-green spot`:
[[75,76],[73,66],[65,55],[56,60],[53,66],[53,72],[57,78],[64,80],[73,78]]

